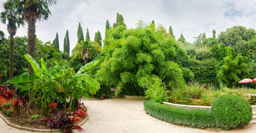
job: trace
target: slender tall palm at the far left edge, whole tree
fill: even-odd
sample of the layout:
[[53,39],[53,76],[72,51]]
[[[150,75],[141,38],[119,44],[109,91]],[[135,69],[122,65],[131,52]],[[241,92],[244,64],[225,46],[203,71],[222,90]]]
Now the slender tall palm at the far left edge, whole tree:
[[[23,18],[19,16],[18,9],[15,7],[15,3],[11,0],[7,0],[3,4],[4,11],[1,12],[1,22],[7,23],[7,30],[10,35],[10,50],[9,50],[9,78],[10,80],[13,78],[13,36],[16,35],[17,27],[20,25],[24,25]],[[12,84],[10,84],[10,89],[13,89]]]

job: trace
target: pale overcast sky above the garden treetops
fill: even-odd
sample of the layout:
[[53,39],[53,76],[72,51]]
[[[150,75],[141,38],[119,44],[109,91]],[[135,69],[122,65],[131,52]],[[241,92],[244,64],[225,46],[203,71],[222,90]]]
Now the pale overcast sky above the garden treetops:
[[[4,1],[0,0],[0,3]],[[66,30],[69,31],[72,50],[77,42],[79,22],[84,37],[88,28],[93,40],[98,30],[104,37],[106,20],[112,25],[116,22],[117,12],[123,15],[128,28],[135,27],[138,20],[148,23],[155,20],[167,30],[172,25],[176,39],[183,33],[186,41],[191,43],[193,37],[203,32],[206,37],[211,37],[212,29],[218,35],[235,25],[256,28],[255,0],[57,0],[50,10],[52,16],[48,21],[36,23],[36,36],[43,42],[52,42],[58,32],[61,51]],[[0,30],[8,35],[6,25],[1,23]],[[27,35],[27,25],[19,28],[16,35]]]

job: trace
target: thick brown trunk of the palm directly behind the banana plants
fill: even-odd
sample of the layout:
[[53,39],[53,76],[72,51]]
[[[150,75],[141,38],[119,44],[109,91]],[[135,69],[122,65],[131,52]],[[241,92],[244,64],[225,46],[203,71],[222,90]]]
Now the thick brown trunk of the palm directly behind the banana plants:
[[[28,54],[34,57],[35,51],[35,41],[36,41],[36,20],[28,21]],[[33,74],[33,69],[30,63],[28,63],[28,74]],[[32,107],[30,101],[31,98],[31,89],[29,90],[29,104]]]

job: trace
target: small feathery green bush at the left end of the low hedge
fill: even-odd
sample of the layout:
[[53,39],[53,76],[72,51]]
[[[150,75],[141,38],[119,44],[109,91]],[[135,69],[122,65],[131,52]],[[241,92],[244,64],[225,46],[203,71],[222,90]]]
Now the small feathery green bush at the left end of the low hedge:
[[146,98],[154,100],[154,102],[162,103],[168,101],[168,90],[166,86],[162,83],[160,78],[154,78],[155,82],[149,86],[145,91]]

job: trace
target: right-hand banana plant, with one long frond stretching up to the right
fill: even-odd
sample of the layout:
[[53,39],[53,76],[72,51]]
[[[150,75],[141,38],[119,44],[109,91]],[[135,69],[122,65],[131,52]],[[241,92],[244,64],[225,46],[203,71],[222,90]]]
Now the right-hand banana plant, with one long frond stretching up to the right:
[[85,73],[86,70],[97,63],[99,63],[99,60],[87,63],[77,73],[75,73],[73,68],[64,65],[62,70],[52,75],[51,78],[59,81],[59,84],[63,87],[65,93],[64,110],[67,108],[67,98],[69,98],[68,110],[73,111],[75,100],[79,100],[82,96],[90,98],[88,93],[96,94],[96,91],[100,89],[100,83]]

